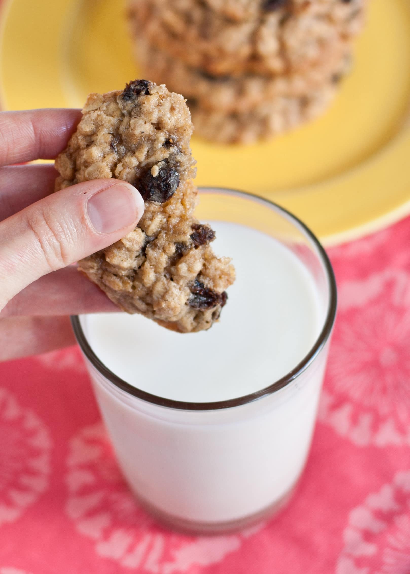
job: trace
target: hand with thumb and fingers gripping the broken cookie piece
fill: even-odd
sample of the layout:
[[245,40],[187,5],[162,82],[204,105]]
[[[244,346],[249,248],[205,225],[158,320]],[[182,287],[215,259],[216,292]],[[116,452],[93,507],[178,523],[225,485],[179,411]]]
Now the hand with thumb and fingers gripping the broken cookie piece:
[[79,110],[0,113],[0,360],[75,343],[69,315],[118,311],[71,265],[130,232],[144,210],[125,181],[85,181],[52,193],[53,165]]

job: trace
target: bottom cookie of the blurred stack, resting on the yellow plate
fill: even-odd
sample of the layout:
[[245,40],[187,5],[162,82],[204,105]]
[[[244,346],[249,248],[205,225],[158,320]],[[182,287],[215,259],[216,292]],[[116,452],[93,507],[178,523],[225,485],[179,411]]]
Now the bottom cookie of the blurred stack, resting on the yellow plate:
[[195,130],[221,144],[251,144],[267,139],[318,117],[333,100],[337,88],[328,84],[304,96],[278,96],[242,113],[206,110],[188,100]]

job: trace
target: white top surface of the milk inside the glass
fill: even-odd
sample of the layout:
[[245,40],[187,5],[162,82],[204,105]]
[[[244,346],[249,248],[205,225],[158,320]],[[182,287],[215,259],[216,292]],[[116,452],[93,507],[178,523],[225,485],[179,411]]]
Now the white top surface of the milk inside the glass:
[[90,315],[87,335],[113,373],[178,401],[224,401],[264,389],[298,364],[318,338],[323,309],[313,278],[275,239],[212,222],[214,251],[232,257],[236,282],[219,323],[184,334],[139,315]]

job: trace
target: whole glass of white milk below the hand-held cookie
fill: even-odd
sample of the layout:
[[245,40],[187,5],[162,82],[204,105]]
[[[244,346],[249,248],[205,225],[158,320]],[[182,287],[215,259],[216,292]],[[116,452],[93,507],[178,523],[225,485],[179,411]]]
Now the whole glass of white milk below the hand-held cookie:
[[220,533],[272,515],[302,474],[337,296],[318,240],[278,205],[202,189],[197,214],[236,267],[209,331],[126,313],[72,323],[140,503],[175,529]]

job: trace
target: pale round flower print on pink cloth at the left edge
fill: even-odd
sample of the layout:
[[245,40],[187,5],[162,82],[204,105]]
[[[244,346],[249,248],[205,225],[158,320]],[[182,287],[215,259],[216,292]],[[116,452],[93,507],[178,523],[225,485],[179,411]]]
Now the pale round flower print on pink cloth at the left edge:
[[0,528],[17,521],[49,484],[51,440],[43,422],[0,387]]

